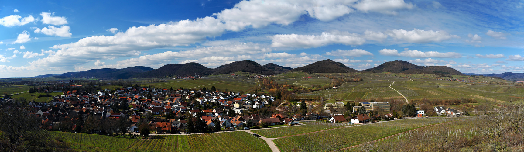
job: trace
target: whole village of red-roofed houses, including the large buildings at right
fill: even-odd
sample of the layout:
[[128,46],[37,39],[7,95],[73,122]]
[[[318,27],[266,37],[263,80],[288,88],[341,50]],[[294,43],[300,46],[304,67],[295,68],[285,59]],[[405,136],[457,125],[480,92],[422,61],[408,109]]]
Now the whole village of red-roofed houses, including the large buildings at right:
[[[63,95],[53,96],[50,102],[27,103],[34,107],[34,114],[40,117],[48,130],[143,134],[140,127],[147,125],[150,133],[190,134],[298,125],[298,122],[305,120],[363,124],[395,120],[402,116],[425,116],[424,111],[415,108],[403,115],[389,112],[388,102],[359,102],[353,105],[350,102],[326,103],[322,107],[324,111],[302,111],[302,114],[288,116],[288,106],[270,111],[268,107],[281,106],[273,96],[264,93],[257,95],[216,91],[214,87],[211,90],[127,87],[100,90],[97,93],[76,90],[62,93]],[[12,100],[4,98],[0,103],[9,101]],[[296,103],[289,105],[305,107]],[[343,107],[349,108],[353,113],[344,114],[335,110]],[[464,115],[461,111],[442,106],[434,107],[434,112],[438,115]]]

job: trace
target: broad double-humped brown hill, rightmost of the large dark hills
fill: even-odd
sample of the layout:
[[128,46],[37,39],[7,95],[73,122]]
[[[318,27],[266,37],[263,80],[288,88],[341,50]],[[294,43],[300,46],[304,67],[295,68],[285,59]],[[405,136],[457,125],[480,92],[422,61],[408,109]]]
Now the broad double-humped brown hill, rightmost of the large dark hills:
[[361,72],[393,72],[393,73],[428,73],[437,75],[464,75],[463,73],[446,66],[422,67],[406,61],[390,61],[380,64],[375,68],[362,70]]

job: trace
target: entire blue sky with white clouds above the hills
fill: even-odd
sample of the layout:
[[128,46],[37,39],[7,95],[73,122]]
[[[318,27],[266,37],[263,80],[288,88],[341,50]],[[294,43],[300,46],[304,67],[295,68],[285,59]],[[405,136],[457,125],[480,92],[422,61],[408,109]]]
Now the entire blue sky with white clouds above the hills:
[[0,78],[241,60],[523,72],[524,1],[8,1]]

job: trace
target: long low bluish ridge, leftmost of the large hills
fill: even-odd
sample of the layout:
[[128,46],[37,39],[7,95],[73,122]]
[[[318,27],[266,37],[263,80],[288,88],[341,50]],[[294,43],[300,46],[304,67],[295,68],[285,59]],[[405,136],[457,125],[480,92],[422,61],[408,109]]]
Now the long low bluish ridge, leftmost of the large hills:
[[91,69],[81,72],[67,72],[57,77],[94,77],[101,79],[128,79],[133,75],[154,70],[153,68],[136,66],[124,69]]

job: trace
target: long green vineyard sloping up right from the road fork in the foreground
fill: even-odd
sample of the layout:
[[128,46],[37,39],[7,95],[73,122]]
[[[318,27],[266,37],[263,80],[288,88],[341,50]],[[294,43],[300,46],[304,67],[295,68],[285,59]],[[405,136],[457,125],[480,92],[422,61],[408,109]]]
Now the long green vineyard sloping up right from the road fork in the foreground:
[[[409,120],[389,121],[347,128],[344,127],[330,131],[278,138],[273,140],[273,142],[277,145],[280,151],[302,151],[300,146],[301,143],[318,145],[316,148],[323,148],[326,143],[332,143],[333,140],[342,142],[341,146],[338,148],[344,148],[360,144],[365,140],[376,140],[418,127],[450,121],[468,120],[472,118],[474,117],[413,118]],[[315,151],[315,149],[310,150]]]

